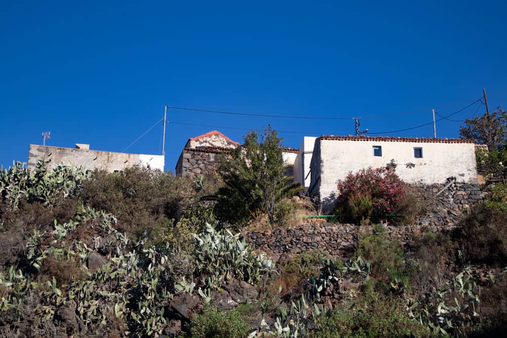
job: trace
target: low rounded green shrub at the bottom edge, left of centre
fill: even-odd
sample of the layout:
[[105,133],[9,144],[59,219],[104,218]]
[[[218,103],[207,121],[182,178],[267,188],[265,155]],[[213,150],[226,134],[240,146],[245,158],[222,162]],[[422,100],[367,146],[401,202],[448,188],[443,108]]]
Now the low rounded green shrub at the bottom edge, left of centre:
[[235,310],[221,312],[218,308],[206,306],[187,324],[192,338],[244,338],[251,330],[250,325]]

